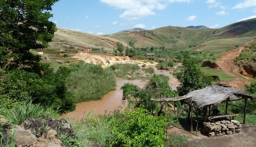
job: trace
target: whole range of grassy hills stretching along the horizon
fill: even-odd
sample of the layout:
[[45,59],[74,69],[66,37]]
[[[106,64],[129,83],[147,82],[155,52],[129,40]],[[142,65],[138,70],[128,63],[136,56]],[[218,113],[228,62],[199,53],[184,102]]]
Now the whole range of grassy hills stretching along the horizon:
[[187,28],[167,26],[154,30],[134,28],[106,36],[58,28],[50,48],[97,46],[112,50],[116,48],[117,42],[121,42],[124,46],[136,48],[164,46],[167,49],[177,50],[225,52],[244,46],[256,37],[256,18],[236,22],[220,29],[202,28],[204,26],[188,26]]

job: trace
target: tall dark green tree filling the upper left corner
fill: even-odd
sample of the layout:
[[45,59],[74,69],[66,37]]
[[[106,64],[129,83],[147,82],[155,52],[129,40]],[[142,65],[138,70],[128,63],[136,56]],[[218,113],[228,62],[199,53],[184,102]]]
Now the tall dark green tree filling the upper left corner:
[[0,69],[30,68],[40,56],[29,50],[47,48],[56,25],[48,19],[58,0],[0,1]]

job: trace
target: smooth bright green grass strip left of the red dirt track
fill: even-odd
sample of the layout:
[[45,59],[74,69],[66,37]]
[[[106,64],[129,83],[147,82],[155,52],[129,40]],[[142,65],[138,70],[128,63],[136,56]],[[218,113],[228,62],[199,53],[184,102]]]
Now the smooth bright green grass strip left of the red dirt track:
[[214,68],[209,68],[209,67],[203,67],[201,68],[202,72],[204,72],[206,75],[217,75],[220,80],[232,80],[235,77],[226,74],[222,70],[214,69]]

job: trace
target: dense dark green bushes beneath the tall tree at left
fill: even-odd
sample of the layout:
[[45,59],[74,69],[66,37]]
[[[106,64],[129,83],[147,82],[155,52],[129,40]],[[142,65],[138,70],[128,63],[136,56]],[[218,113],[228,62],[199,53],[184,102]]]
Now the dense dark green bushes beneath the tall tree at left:
[[66,67],[54,72],[50,64],[40,64],[32,72],[11,70],[0,83],[0,104],[12,108],[12,103],[33,99],[33,103],[60,108],[62,112],[73,111],[74,95],[66,87],[70,72]]

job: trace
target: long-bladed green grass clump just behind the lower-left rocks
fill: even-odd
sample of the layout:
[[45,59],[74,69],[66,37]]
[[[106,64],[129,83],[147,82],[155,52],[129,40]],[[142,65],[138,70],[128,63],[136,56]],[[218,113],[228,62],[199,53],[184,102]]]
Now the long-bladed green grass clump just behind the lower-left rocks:
[[12,109],[2,107],[0,110],[0,115],[6,116],[9,123],[16,125],[20,125],[29,117],[39,118],[43,115],[49,115],[52,118],[57,118],[60,116],[59,111],[55,110],[53,107],[43,107],[40,104],[33,104],[32,101],[14,105]]

